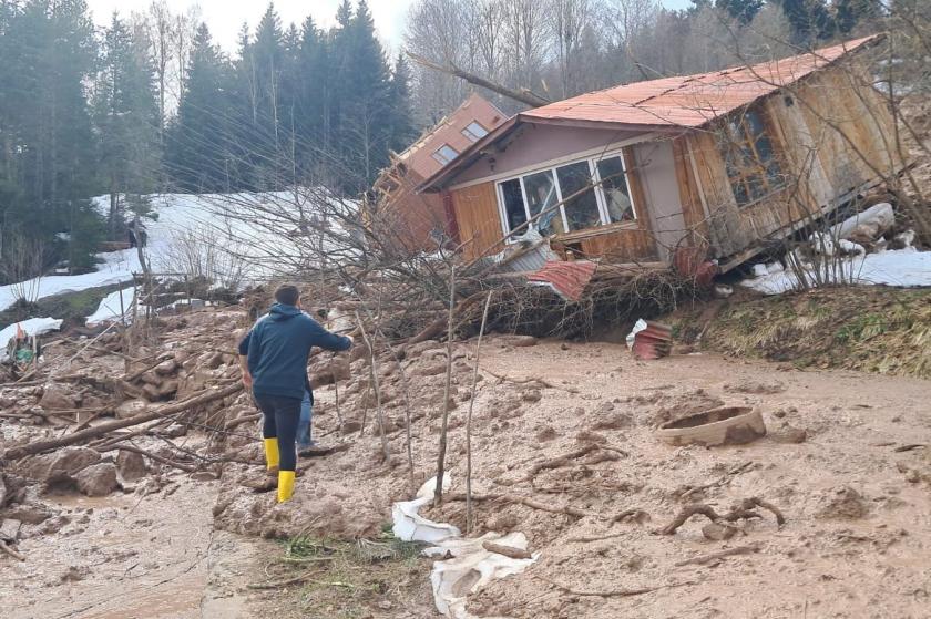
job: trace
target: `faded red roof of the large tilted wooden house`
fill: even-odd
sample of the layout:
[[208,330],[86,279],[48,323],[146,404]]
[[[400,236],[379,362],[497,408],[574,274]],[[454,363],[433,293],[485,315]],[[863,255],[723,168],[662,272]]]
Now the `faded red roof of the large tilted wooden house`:
[[436,188],[453,178],[474,163],[488,145],[523,123],[624,127],[644,133],[697,128],[792,84],[881,37],[873,34],[749,66],[623,84],[528,110],[501,123],[454,162],[427,177],[419,190]]

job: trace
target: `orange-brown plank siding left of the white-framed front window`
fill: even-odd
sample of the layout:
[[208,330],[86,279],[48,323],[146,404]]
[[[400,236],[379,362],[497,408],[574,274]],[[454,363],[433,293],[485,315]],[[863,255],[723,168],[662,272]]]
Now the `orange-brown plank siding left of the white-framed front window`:
[[459,238],[464,244],[467,260],[498,254],[504,246],[499,243],[504,234],[498,212],[494,183],[482,183],[450,192],[452,212],[459,225]]

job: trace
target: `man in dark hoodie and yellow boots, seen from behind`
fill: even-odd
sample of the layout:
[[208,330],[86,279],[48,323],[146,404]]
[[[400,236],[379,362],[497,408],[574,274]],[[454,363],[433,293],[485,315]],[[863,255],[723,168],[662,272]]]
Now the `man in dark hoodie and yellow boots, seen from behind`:
[[310,394],[311,402],[314,399],[307,380],[310,350],[348,350],[352,339],[330,333],[300,311],[300,293],[295,286],[280,286],[275,301],[268,316],[243,340],[241,352],[246,349],[243,382],[252,388],[264,417],[265,462],[269,471],[278,470],[278,503],[284,503],[294,494],[300,402],[305,393]]

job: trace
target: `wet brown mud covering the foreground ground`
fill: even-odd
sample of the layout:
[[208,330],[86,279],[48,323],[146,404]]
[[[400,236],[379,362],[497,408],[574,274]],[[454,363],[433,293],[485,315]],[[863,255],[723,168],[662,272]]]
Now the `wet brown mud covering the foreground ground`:
[[[914,446],[931,443],[928,381],[799,371],[707,353],[643,362],[615,344],[515,343],[532,342],[491,337],[483,347],[485,371],[473,411],[475,492],[530,496],[585,515],[480,502],[477,533],[524,532],[541,558],[524,574],[474,595],[474,615],[928,616],[931,450]],[[473,345],[474,340],[466,342],[456,354],[459,384],[448,460],[453,494],[463,488]],[[418,372],[423,363],[408,367],[412,398],[426,394],[413,415],[413,479],[403,423],[396,422],[403,419],[402,406],[386,412],[392,453],[386,463],[372,435],[375,412],[367,412],[366,435],[340,437],[336,392],[325,386],[317,392],[318,437],[349,446],[305,464],[294,502],[276,506],[273,493],[244,485],[263,472],[238,463],[225,465],[217,481],[163,470],[157,486],[146,478],[100,498],[45,496],[57,516],[52,524],[30,527],[19,543],[27,560],[0,557],[3,616],[437,616],[423,559],[378,567],[381,574],[365,571],[352,588],[320,587],[336,581],[328,568],[314,576],[317,585],[249,588],[300,574],[279,565],[280,543],[260,536],[377,538],[391,501],[409,498],[412,487],[433,474],[440,406],[429,402],[442,376]],[[341,413],[350,419],[359,419],[361,410],[347,409],[352,402],[347,393],[368,398],[350,386],[357,370],[354,365],[354,378],[340,382]],[[672,447],[653,435],[659,421],[722,403],[758,407],[769,435],[714,448]],[[241,441],[227,450],[253,458],[257,443]],[[587,453],[552,468],[535,466],[580,447]],[[738,522],[743,530],[729,540],[705,539],[700,517],[675,535],[656,533],[685,504],[726,512],[753,496],[776,505],[786,524],[778,527],[761,512],[760,519]],[[628,509],[648,519],[612,523]],[[464,525],[459,501],[428,515]],[[737,547],[750,554],[677,565]]]

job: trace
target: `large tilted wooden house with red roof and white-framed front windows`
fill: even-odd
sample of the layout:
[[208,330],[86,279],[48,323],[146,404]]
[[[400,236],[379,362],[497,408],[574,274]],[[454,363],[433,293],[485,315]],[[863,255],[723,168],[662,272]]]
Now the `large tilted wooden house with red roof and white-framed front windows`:
[[522,112],[419,189],[444,196],[470,259],[540,233],[564,258],[726,270],[901,169],[855,53],[877,40]]

